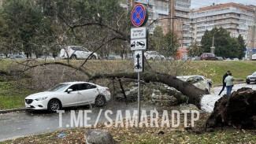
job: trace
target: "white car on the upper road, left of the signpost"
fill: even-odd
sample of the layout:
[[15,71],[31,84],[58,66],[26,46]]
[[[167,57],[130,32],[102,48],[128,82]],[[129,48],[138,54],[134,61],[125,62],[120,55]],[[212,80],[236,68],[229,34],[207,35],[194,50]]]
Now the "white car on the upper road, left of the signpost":
[[[65,46],[64,49],[61,49],[60,57],[61,59],[69,58],[72,60],[87,59],[91,53],[91,51],[82,46]],[[91,55],[90,59],[99,59],[99,56],[94,53]]]

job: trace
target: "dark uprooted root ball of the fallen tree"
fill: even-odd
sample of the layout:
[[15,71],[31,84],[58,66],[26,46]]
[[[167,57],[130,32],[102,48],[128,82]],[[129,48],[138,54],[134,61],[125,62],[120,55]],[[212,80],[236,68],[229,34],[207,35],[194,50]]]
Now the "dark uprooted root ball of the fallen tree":
[[215,103],[206,128],[223,126],[256,129],[256,90],[243,87]]

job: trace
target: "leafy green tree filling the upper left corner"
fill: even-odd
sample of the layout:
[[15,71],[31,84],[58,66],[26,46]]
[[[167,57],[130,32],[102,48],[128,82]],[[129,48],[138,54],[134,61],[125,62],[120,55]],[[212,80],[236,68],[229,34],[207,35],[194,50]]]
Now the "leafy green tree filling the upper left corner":
[[43,17],[41,7],[33,1],[3,1],[1,17],[5,20],[7,34],[0,35],[9,43],[8,53],[24,51],[27,57],[32,53],[42,55],[43,46],[53,42],[50,20]]

